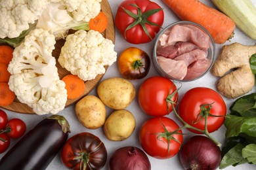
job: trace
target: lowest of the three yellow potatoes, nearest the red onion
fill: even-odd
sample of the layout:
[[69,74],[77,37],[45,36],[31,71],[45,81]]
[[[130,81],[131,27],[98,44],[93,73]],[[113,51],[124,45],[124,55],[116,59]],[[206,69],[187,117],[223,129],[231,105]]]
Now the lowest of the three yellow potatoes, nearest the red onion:
[[115,110],[104,124],[104,133],[110,141],[123,141],[131,136],[136,126],[135,117],[125,109]]

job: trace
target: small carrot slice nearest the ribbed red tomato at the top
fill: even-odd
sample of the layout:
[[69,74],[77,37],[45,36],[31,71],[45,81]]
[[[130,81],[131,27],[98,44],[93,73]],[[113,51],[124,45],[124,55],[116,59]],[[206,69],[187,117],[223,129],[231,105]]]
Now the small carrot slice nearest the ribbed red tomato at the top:
[[102,33],[108,25],[108,17],[100,11],[95,18],[89,21],[89,28]]

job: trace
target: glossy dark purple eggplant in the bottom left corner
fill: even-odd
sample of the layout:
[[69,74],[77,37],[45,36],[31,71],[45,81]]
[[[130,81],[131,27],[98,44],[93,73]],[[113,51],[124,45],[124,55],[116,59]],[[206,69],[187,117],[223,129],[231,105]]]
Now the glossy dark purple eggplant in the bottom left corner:
[[70,125],[64,116],[45,118],[1,158],[0,169],[46,169],[68,139]]

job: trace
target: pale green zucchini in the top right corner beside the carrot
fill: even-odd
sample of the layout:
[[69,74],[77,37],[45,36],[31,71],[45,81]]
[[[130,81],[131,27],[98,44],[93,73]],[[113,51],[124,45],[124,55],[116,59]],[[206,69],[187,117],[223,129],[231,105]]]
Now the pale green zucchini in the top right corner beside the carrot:
[[256,39],[256,7],[251,0],[211,0],[213,4],[231,18],[236,26]]

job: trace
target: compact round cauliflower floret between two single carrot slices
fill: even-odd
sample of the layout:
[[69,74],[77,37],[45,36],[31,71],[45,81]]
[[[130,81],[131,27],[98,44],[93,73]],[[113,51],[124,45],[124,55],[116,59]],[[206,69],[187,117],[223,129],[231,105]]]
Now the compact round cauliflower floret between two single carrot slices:
[[58,62],[82,80],[92,80],[104,74],[104,65],[112,65],[117,58],[114,44],[98,31],[79,30],[66,37]]

